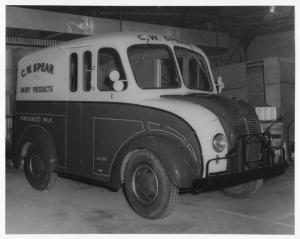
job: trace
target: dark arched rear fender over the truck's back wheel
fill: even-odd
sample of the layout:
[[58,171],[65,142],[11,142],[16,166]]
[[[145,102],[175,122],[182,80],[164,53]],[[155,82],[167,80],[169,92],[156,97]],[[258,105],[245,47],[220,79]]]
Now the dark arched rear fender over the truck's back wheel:
[[29,145],[34,143],[38,144],[43,152],[51,157],[52,169],[54,170],[57,162],[55,144],[49,132],[40,125],[31,125],[20,134],[20,140],[14,150],[14,164],[21,164],[21,160],[26,156]]

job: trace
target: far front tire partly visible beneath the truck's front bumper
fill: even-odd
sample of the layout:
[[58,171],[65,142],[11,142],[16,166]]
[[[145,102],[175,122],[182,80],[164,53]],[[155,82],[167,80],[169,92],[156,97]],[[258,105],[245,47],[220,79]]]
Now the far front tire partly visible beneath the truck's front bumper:
[[222,192],[233,198],[247,198],[255,194],[263,185],[263,179],[222,189]]

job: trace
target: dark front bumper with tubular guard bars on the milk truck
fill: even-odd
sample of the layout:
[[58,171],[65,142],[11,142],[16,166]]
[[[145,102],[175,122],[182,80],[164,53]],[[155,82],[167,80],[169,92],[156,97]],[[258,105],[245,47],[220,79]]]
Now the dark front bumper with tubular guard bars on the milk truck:
[[[248,146],[251,144],[260,146],[259,157],[257,160],[247,161]],[[221,159],[227,159],[226,171],[210,173],[210,164]],[[242,135],[238,138],[236,146],[224,158],[210,159],[206,163],[206,177],[196,179],[193,182],[193,189],[203,191],[210,188],[224,188],[277,176],[282,174],[288,165],[284,148],[272,147],[271,135],[268,132]]]

